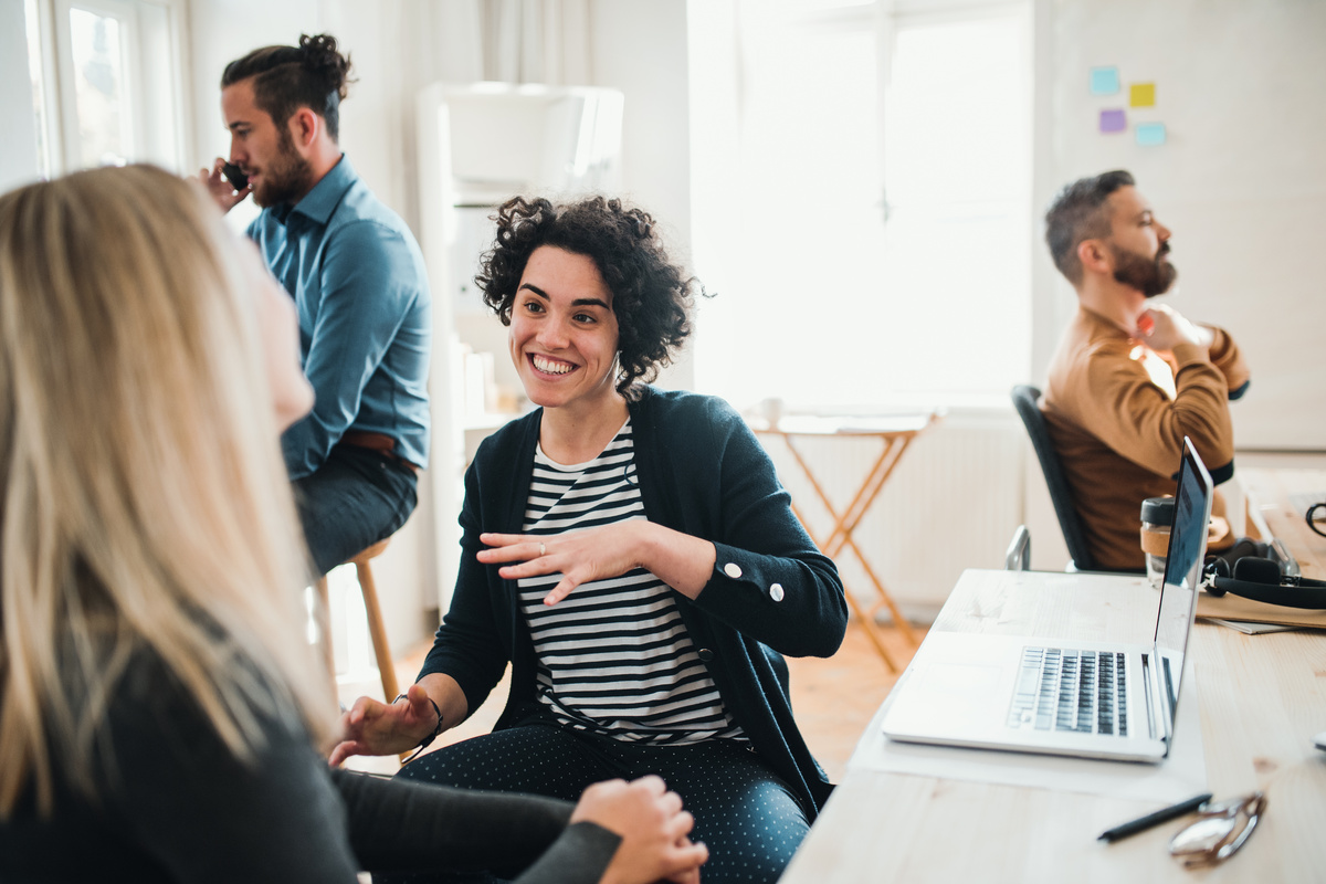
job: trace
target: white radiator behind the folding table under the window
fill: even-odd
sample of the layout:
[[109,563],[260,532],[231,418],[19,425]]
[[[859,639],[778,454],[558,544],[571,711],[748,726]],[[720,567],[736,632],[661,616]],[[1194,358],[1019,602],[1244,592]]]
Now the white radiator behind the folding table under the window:
[[[1004,566],[1025,521],[1025,439],[1012,408],[949,410],[912,440],[862,517],[855,545],[908,620],[932,622],[964,569]],[[823,543],[833,516],[782,439],[760,440],[810,535]],[[794,444],[839,513],[882,449],[878,439],[851,436],[797,436]],[[851,547],[835,561],[847,591],[874,606],[874,584]]]

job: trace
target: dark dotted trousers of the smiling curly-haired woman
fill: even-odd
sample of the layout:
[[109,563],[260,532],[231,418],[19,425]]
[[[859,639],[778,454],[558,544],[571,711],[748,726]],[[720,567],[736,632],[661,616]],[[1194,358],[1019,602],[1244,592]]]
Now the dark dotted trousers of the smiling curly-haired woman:
[[[586,786],[602,779],[658,774],[695,815],[691,838],[709,847],[709,861],[700,869],[704,884],[772,884],[810,823],[792,790],[745,746],[733,740],[690,746],[621,742],[533,714],[514,728],[420,755],[402,767],[396,779],[577,801]],[[457,877],[373,880],[383,884]]]

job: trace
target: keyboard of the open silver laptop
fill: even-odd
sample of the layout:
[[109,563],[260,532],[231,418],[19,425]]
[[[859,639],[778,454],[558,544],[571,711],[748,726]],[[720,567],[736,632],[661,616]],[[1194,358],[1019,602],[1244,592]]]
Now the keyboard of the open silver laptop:
[[1008,726],[1128,736],[1123,653],[1022,648]]

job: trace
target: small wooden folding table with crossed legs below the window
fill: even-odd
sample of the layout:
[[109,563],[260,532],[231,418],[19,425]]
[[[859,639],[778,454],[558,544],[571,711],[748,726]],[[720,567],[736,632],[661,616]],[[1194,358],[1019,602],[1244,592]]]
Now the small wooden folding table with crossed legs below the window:
[[[834,521],[833,529],[827,534],[817,537],[810,529],[810,524],[806,521],[805,516],[802,516],[801,510],[797,509],[796,501],[793,501],[792,512],[801,520],[806,533],[810,534],[810,539],[814,541],[815,546],[818,546],[825,555],[834,561],[837,561],[845,550],[851,550],[851,553],[857,557],[857,561],[861,563],[862,570],[866,573],[866,577],[874,586],[876,594],[876,602],[874,606],[862,607],[861,602],[850,588],[847,590],[847,604],[851,606],[853,614],[857,616],[857,620],[861,622],[866,632],[866,637],[869,637],[871,644],[875,645],[875,651],[878,651],[879,656],[883,657],[890,672],[898,672],[898,664],[894,661],[892,655],[888,653],[888,649],[884,647],[884,643],[878,634],[879,627],[875,623],[875,614],[880,607],[887,607],[894,626],[898,627],[898,631],[912,644],[912,647],[916,645],[916,635],[912,632],[911,624],[907,623],[907,618],[904,618],[902,611],[898,610],[892,596],[884,587],[884,582],[879,579],[879,575],[875,574],[875,569],[870,566],[866,555],[861,551],[861,547],[857,546],[857,541],[853,538],[853,531],[857,530],[857,525],[859,525],[861,520],[867,512],[870,512],[870,506],[875,502],[875,498],[879,497],[879,492],[883,489],[884,482],[888,481],[894,468],[898,465],[898,459],[903,456],[904,451],[907,451],[912,439],[935,423],[937,417],[939,415],[934,411],[878,417],[819,417],[812,415],[793,415],[784,417],[772,425],[753,425],[756,433],[778,436],[782,439],[788,452],[792,455],[793,460],[797,461],[797,465],[801,468],[805,477],[810,481],[810,486],[814,489],[819,502],[829,510],[829,516]],[[834,506],[829,494],[819,484],[809,460],[801,449],[797,448],[796,440],[805,436],[834,436],[838,439],[874,437],[882,443],[879,456],[862,477],[851,502],[847,504],[847,506],[845,506],[841,512]]]

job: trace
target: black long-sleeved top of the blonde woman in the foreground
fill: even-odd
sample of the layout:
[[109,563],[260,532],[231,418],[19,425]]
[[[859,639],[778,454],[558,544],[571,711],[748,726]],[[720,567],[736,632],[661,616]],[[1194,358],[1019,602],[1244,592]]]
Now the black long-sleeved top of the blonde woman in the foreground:
[[60,781],[53,816],[40,819],[29,790],[0,822],[0,881],[353,884],[361,868],[597,881],[619,843],[591,823],[568,827],[566,802],[329,770],[292,716],[253,712],[267,745],[243,765],[139,655],[99,737],[99,798]]

